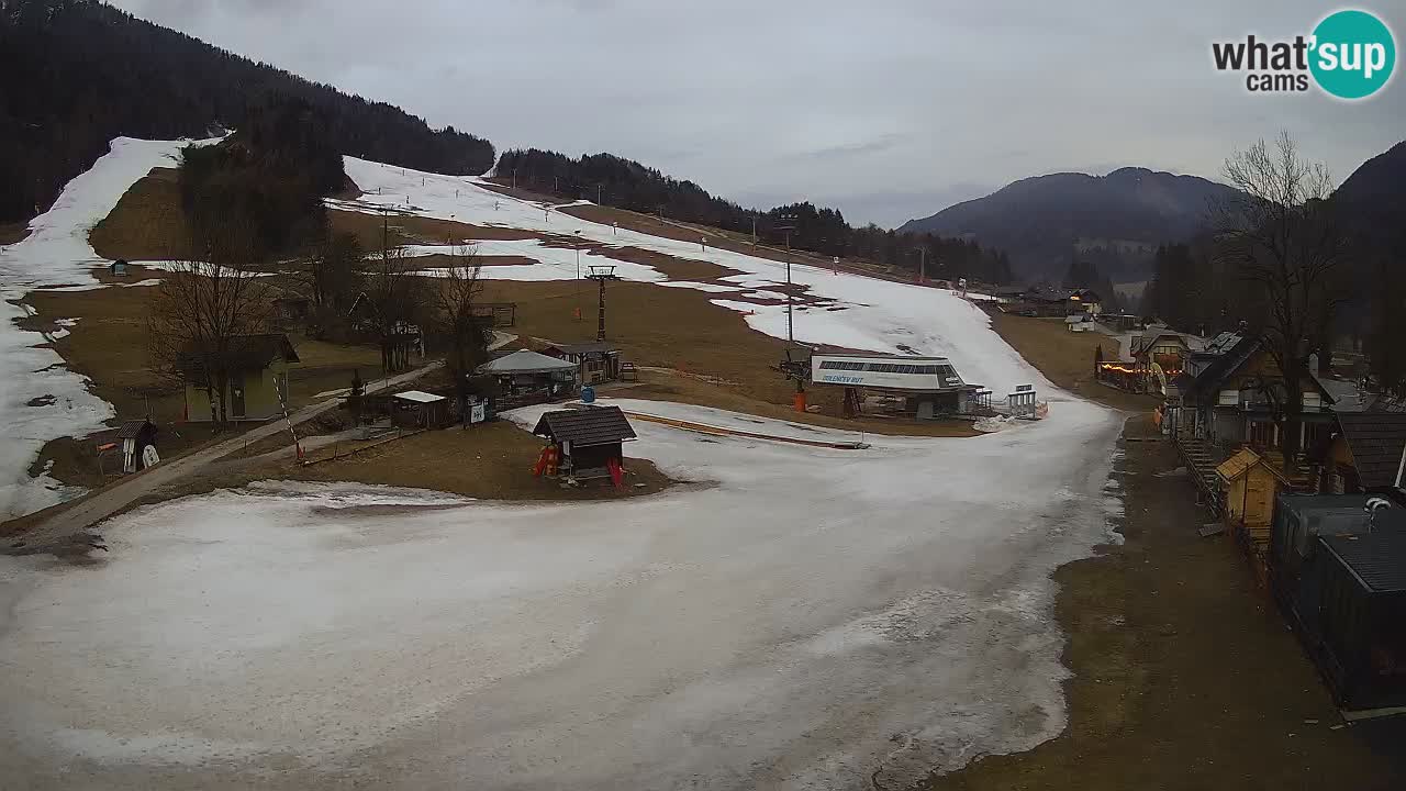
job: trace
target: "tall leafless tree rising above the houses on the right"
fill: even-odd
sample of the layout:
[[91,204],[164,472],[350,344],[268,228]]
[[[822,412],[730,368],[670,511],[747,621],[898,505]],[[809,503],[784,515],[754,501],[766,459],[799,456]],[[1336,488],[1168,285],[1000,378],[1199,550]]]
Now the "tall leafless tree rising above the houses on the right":
[[1322,163],[1299,155],[1288,132],[1272,148],[1260,141],[1236,152],[1226,159],[1225,175],[1240,193],[1213,208],[1216,256],[1261,291],[1264,315],[1256,325],[1282,374],[1282,383],[1265,383],[1263,390],[1289,469],[1299,450],[1309,355],[1315,343],[1326,346],[1343,301],[1334,273],[1347,251],[1334,217],[1333,179]]

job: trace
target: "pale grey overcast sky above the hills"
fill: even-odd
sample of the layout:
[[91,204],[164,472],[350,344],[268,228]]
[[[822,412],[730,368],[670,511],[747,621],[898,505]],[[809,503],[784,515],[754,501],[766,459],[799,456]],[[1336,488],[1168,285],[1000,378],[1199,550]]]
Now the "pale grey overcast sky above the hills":
[[[499,151],[609,151],[742,204],[808,198],[851,222],[896,225],[1057,170],[1219,177],[1227,153],[1279,128],[1344,179],[1406,137],[1400,75],[1348,104],[1253,96],[1212,68],[1212,41],[1308,34],[1337,3],[114,4]],[[1400,46],[1403,6],[1360,7]]]

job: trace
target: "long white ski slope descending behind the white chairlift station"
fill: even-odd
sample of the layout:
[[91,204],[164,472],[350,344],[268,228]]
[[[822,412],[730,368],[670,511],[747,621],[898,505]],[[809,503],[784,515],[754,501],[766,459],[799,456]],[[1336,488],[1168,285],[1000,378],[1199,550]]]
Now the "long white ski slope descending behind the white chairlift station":
[[[696,242],[681,242],[624,228],[578,220],[554,211],[550,204],[517,200],[492,191],[475,177],[425,173],[353,156],[344,158],[347,176],[363,190],[354,201],[329,200],[333,208],[380,213],[391,210],[436,220],[456,220],[474,225],[513,228],[541,234],[575,236],[607,246],[634,246],[682,259],[706,260],[738,270],[724,279],[738,290],[766,290],[786,281],[786,265]],[[578,205],[586,201],[574,201]],[[413,252],[447,252],[447,246],[418,246]],[[485,266],[484,277],[508,280],[569,280],[576,276],[575,251],[550,248],[536,239],[478,242],[484,255],[522,255],[540,266]],[[589,260],[588,260],[589,259]],[[650,266],[612,259],[607,255],[581,255],[588,263],[610,263],[628,280],[666,280]],[[796,311],[796,339],[804,343],[830,343],[873,352],[941,355],[952,359],[967,381],[990,387],[997,398],[1017,384],[1035,384],[1040,391],[1053,386],[990,329],[990,318],[974,304],[952,291],[917,287],[849,273],[831,273],[807,265],[792,265],[792,280],[808,286],[810,293],[834,300],[845,310],[801,307]],[[686,281],[672,286],[690,287]],[[717,293],[716,284],[699,284]],[[786,307],[758,305],[728,300],[720,293],[714,304],[744,312],[747,324],[776,338],[786,336]]]

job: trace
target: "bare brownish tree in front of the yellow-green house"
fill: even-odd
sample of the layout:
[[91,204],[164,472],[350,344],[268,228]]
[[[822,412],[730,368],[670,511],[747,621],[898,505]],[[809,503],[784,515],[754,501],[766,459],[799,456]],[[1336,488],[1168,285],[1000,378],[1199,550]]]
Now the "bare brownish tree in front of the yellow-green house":
[[266,332],[271,319],[267,287],[239,239],[226,228],[207,241],[208,260],[177,262],[146,315],[155,369],[204,388],[217,424],[229,419],[225,396],[245,339]]

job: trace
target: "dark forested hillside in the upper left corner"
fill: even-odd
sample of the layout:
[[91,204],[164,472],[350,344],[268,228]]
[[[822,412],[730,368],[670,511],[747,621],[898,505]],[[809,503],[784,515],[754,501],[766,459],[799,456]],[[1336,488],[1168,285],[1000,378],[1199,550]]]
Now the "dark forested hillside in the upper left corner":
[[205,137],[287,99],[325,118],[342,153],[458,175],[494,163],[485,139],[93,0],[0,0],[0,221],[46,205],[114,137]]

